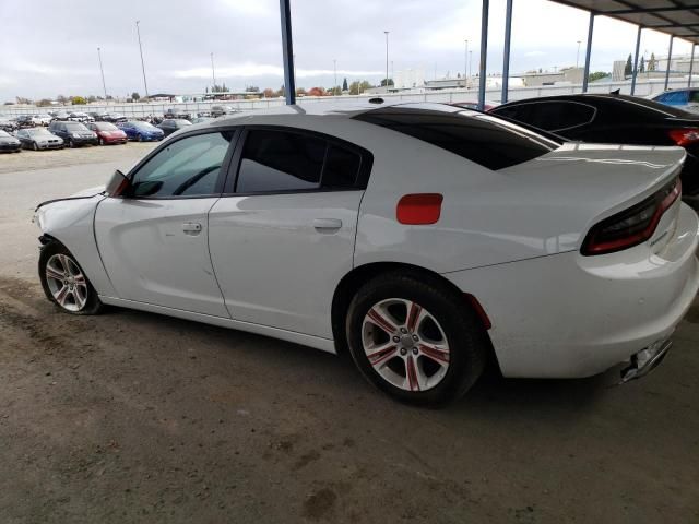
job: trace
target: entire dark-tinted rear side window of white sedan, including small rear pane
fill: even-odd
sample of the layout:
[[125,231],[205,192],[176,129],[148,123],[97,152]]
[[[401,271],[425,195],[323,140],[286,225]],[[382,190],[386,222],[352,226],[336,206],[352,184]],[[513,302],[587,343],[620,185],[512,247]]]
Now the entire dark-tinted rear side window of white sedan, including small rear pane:
[[248,130],[236,192],[357,189],[363,157],[321,136],[271,129]]

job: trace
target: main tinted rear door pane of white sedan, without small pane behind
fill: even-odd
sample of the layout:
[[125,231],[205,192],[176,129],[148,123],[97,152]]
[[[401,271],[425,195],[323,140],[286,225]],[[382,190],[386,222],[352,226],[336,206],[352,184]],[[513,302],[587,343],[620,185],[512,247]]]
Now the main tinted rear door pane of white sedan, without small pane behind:
[[320,186],[325,141],[305,134],[250,130],[236,191],[292,191]]

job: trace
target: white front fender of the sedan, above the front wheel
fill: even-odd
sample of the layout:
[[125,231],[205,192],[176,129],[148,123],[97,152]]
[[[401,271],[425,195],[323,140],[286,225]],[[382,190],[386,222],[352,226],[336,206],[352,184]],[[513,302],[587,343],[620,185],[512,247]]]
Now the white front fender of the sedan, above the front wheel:
[[95,212],[104,198],[96,194],[40,204],[34,222],[43,236],[55,238],[73,253],[98,295],[116,296],[95,240]]

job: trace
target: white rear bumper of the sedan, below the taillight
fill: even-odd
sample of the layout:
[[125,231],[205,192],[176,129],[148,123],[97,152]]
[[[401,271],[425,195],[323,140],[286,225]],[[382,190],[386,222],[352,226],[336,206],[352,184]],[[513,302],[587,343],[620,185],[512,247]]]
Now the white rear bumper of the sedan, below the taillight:
[[698,233],[683,205],[659,254],[566,252],[443,276],[482,303],[505,376],[589,377],[671,337],[699,289]]

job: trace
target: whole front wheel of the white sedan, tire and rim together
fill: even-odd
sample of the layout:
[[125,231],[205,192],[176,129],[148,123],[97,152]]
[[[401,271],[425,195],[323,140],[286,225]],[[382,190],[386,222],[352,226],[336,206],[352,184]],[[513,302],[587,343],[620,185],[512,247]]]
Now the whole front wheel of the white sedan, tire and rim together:
[[51,302],[71,314],[97,314],[103,303],[73,254],[60,242],[51,241],[39,255],[42,287]]

